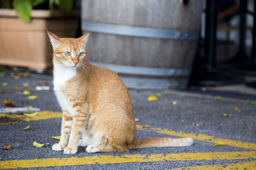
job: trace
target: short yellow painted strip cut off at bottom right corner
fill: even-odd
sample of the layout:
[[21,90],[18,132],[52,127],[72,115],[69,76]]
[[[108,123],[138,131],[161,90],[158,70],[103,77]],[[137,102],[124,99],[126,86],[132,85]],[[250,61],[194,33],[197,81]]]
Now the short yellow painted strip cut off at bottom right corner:
[[191,166],[175,168],[173,170],[216,170],[216,169],[256,169],[256,160],[252,162],[238,162],[236,164],[220,164],[207,166]]

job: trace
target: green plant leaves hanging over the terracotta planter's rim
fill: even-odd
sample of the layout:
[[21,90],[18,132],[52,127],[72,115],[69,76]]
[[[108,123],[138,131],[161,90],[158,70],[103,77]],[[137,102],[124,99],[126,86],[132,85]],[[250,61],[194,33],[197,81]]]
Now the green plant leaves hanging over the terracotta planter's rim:
[[51,12],[55,9],[69,12],[72,10],[74,0],[13,0],[12,6],[17,11],[19,17],[28,22],[33,8],[45,6],[47,3],[49,4],[48,9]]

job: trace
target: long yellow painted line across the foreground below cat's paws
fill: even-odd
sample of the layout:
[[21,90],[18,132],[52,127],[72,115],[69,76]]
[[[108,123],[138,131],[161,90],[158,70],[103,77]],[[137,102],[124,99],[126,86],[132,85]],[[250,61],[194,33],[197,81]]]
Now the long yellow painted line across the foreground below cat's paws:
[[180,160],[232,160],[256,159],[256,152],[208,152],[208,153],[170,153],[146,155],[100,155],[92,157],[69,157],[31,160],[0,161],[0,169],[13,169],[17,167],[51,167],[51,166],[81,166],[92,164],[120,164],[129,162],[164,162]]

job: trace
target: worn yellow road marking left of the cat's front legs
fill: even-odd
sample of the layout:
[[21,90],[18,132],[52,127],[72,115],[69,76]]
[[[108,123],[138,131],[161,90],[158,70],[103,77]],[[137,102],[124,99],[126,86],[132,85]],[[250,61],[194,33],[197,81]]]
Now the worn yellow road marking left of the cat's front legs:
[[38,115],[35,117],[26,117],[23,113],[0,113],[0,125],[60,117],[62,117],[62,113],[54,111],[38,111]]

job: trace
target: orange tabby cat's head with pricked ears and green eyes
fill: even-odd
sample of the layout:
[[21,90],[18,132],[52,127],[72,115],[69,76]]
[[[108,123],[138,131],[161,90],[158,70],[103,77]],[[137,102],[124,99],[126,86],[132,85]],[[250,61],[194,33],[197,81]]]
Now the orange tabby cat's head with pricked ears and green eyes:
[[74,69],[83,65],[83,60],[86,60],[85,46],[89,38],[88,33],[80,38],[59,38],[50,31],[47,33],[54,52],[54,64]]

